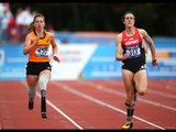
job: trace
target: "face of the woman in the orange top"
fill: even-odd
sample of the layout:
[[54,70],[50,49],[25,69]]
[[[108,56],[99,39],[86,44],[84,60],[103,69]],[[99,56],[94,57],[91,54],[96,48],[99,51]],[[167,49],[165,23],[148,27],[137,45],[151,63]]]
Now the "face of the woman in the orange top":
[[42,30],[45,26],[44,18],[42,16],[35,18],[34,26],[36,30]]

